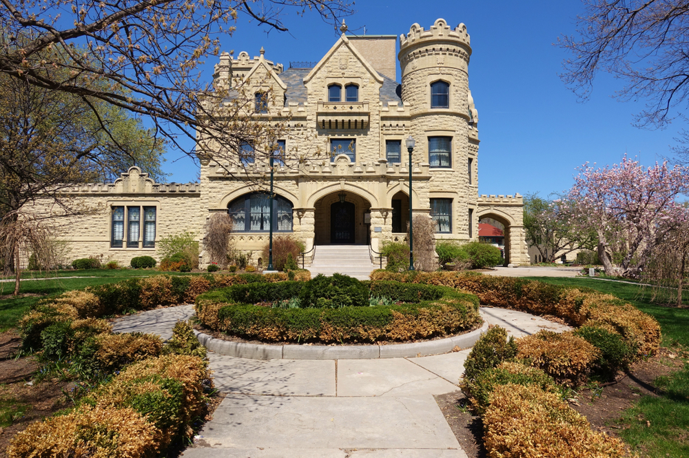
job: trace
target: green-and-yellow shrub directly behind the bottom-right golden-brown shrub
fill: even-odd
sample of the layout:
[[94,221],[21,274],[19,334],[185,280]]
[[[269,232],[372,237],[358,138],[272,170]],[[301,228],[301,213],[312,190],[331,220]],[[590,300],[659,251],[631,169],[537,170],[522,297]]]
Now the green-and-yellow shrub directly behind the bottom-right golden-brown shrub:
[[474,410],[483,415],[490,404],[490,396],[497,386],[535,385],[546,392],[557,393],[559,388],[553,377],[540,369],[532,368],[517,362],[504,361],[497,367],[480,372],[475,379],[467,380],[461,385],[462,392],[471,399]]

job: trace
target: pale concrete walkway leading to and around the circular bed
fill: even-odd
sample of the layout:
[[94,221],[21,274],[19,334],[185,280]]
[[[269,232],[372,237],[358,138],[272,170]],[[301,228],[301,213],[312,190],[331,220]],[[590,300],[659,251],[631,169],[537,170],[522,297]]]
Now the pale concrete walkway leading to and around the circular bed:
[[[482,308],[521,337],[567,329],[514,310]],[[117,332],[172,335],[192,306],[117,319]],[[429,357],[260,361],[209,352],[225,399],[184,458],[464,458],[433,395],[457,390],[471,349]]]

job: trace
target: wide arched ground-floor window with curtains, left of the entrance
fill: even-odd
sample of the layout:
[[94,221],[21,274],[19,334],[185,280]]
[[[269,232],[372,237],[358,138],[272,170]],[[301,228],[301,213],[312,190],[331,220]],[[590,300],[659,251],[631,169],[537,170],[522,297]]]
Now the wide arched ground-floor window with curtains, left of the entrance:
[[[230,202],[227,213],[234,232],[268,232],[271,199],[267,192],[251,192]],[[292,203],[276,195],[273,199],[273,230],[291,232]]]

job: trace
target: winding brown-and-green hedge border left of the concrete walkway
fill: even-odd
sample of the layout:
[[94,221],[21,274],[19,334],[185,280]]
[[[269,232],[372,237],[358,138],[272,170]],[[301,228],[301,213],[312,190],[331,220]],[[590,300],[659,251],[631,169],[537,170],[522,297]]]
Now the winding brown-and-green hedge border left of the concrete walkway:
[[102,317],[185,302],[212,288],[287,278],[159,275],[39,301],[19,323],[23,348],[48,364],[61,361],[63,370],[88,383],[79,385],[74,409],[16,435],[8,457],[147,457],[176,439],[188,439],[194,421],[203,417],[205,392],[212,388],[205,348],[191,326],[178,322],[172,339],[163,342],[138,332],[113,334]]

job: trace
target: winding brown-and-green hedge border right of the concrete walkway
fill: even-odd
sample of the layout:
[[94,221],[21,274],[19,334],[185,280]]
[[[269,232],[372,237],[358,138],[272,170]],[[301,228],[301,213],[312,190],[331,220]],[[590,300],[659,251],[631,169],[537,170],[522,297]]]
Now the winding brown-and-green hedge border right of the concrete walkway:
[[652,355],[661,338],[655,319],[612,295],[514,277],[378,270],[371,279],[461,288],[484,305],[555,315],[577,327],[516,341],[507,339],[504,329],[491,328],[476,343],[462,390],[482,416],[489,457],[627,456],[619,439],[593,432],[586,418],[569,408],[555,382],[576,386],[591,375],[613,377]]

